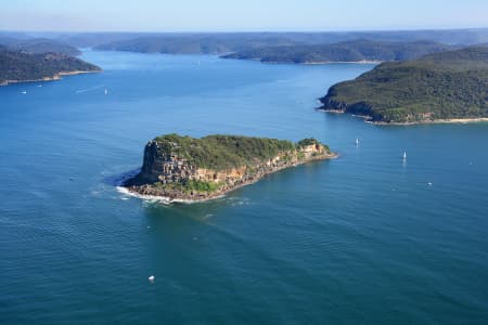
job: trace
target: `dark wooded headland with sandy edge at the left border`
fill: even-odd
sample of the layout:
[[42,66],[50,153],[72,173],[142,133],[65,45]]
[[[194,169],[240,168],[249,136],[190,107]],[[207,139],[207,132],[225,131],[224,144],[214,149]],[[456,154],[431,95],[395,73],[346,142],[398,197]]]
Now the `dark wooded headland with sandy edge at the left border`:
[[59,53],[26,53],[0,47],[0,86],[60,79],[62,75],[101,69],[90,63]]

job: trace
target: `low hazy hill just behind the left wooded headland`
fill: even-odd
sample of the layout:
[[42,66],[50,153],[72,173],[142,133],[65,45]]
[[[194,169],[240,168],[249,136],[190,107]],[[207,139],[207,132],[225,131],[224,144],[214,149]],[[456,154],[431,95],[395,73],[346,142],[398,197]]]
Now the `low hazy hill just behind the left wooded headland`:
[[[1,40],[0,40],[1,41]],[[47,38],[35,38],[22,41],[11,41],[7,44],[11,51],[25,51],[29,53],[61,53],[66,55],[79,55],[81,52],[72,46]]]

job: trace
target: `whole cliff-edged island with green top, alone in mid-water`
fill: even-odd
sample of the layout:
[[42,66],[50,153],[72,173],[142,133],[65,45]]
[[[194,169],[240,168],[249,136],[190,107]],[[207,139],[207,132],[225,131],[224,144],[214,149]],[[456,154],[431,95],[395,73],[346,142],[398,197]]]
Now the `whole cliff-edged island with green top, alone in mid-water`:
[[195,139],[166,134],[145,145],[140,172],[121,186],[127,193],[168,203],[203,202],[269,173],[335,157],[329,146],[314,139],[293,143],[241,135]]

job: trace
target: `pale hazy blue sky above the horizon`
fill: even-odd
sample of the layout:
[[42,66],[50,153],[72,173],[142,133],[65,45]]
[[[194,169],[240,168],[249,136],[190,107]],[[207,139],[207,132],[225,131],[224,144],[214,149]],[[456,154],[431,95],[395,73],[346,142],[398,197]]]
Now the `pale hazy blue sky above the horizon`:
[[0,0],[1,30],[357,30],[488,27],[488,0]]

